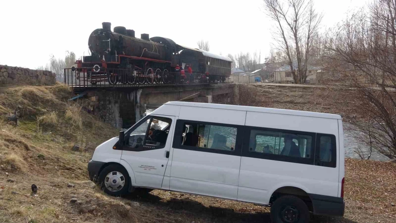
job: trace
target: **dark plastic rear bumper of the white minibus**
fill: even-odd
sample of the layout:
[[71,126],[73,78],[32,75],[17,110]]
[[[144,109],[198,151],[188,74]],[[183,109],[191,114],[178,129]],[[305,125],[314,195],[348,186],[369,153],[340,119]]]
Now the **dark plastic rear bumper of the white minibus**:
[[343,216],[345,211],[344,198],[310,194],[315,215]]

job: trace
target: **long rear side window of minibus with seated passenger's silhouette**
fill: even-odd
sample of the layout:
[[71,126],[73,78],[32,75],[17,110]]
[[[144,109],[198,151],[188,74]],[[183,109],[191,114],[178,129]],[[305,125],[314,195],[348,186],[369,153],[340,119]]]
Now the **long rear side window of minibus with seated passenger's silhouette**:
[[278,131],[251,130],[249,152],[311,158],[312,136]]

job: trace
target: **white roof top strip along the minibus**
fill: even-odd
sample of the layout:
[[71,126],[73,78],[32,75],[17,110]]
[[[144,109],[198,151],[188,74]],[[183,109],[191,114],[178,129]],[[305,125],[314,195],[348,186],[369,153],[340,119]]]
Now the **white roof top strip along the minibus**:
[[279,108],[262,108],[262,107],[252,107],[252,106],[239,106],[239,105],[229,105],[229,104],[211,104],[211,103],[198,103],[198,102],[167,102],[164,105],[176,105],[176,106],[191,106],[199,108],[217,108],[217,109],[228,109],[228,110],[239,110],[248,112],[266,112],[266,113],[276,113],[285,115],[300,115],[308,117],[319,117],[328,119],[341,119],[341,115],[329,114],[329,113],[319,113],[319,112],[305,112],[297,110],[287,110]]

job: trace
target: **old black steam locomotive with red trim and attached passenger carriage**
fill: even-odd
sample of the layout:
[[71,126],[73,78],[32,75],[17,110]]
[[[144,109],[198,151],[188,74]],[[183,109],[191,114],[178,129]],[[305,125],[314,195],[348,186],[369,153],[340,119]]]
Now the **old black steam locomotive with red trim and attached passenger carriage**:
[[[111,84],[166,82],[165,77],[177,65],[190,65],[193,73],[221,75],[222,80],[231,73],[232,61],[227,56],[181,46],[169,38],[149,38],[148,34],[137,38],[135,31],[121,26],[112,32],[109,22],[103,22],[101,29],[91,33],[88,46],[91,55],[76,63],[77,68],[91,76],[91,84],[104,79]],[[133,75],[121,78],[117,72],[109,72],[111,69],[132,71]]]

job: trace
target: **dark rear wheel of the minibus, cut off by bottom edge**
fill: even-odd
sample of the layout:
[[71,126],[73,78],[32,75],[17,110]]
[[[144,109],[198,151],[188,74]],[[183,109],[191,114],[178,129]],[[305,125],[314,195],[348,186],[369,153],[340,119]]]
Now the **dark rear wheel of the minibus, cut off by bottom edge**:
[[296,196],[282,196],[271,206],[271,220],[273,223],[308,223],[307,204]]

